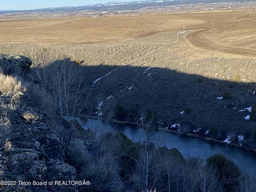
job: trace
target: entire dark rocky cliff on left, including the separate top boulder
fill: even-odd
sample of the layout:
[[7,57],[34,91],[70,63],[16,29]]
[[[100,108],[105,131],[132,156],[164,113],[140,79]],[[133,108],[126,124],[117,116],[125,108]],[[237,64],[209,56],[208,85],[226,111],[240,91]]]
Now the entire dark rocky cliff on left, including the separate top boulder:
[[[5,74],[27,72],[30,65],[31,60],[23,56],[0,56],[0,66]],[[47,115],[26,103],[22,91],[2,93],[0,90],[0,180],[31,183],[75,180],[76,169],[65,162],[66,143],[56,133],[56,128],[50,126]],[[66,125],[60,122],[58,126]],[[73,192],[75,186],[1,185],[0,191],[5,190]]]

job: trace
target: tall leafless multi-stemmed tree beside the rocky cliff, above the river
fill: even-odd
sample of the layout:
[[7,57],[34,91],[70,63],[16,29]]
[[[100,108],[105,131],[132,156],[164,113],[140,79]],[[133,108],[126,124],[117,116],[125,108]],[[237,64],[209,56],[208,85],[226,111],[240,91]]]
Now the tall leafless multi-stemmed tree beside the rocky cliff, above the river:
[[85,96],[84,76],[69,59],[59,59],[49,66],[49,83],[54,96],[55,106],[60,115],[70,120],[71,116],[79,116],[87,104],[89,94]]

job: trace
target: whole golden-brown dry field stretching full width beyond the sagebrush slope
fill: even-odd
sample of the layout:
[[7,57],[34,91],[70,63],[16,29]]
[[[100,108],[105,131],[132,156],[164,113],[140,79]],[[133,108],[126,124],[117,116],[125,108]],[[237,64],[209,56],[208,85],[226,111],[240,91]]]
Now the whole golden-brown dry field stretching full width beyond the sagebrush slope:
[[[251,14],[252,13],[252,14]],[[163,31],[192,30],[186,37],[208,50],[255,55],[256,10],[0,22],[0,42],[85,44],[120,42]]]

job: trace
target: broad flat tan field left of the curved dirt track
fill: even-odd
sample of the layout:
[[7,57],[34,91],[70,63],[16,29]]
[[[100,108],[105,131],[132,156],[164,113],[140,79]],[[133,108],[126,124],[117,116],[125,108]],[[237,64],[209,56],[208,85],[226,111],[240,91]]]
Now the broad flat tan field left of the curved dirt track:
[[203,24],[180,15],[63,18],[0,22],[0,42],[43,44],[122,41]]

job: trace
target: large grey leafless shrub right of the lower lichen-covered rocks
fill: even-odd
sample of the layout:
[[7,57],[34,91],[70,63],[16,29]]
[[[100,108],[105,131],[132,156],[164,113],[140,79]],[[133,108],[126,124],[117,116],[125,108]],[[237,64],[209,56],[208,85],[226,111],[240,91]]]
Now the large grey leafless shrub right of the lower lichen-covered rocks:
[[68,146],[67,156],[77,169],[78,178],[91,181],[84,190],[116,192],[123,187],[120,167],[107,153],[89,152],[85,142],[75,138]]

